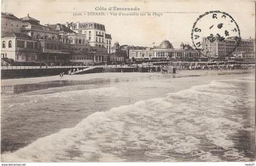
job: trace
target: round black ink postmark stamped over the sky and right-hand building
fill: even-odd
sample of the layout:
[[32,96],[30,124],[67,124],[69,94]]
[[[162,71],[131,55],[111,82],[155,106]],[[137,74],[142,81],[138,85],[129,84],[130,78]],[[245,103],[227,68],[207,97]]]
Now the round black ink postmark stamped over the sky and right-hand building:
[[236,21],[226,12],[205,12],[193,24],[191,39],[202,57],[232,57],[241,41]]

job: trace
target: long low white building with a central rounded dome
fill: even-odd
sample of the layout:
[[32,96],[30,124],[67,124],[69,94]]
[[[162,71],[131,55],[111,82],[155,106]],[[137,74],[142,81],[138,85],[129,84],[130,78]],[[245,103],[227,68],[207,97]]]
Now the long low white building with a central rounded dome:
[[201,58],[201,54],[197,50],[192,49],[192,47],[174,49],[172,44],[165,40],[160,46],[155,48],[146,48],[146,49],[130,49],[129,58],[135,59],[181,59],[181,60],[190,60],[193,58]]

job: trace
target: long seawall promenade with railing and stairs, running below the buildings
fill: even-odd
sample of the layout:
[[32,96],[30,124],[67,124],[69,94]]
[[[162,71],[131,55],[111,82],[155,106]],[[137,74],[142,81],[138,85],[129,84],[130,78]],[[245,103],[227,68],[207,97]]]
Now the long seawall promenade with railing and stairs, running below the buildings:
[[[91,65],[91,66],[1,66],[1,79],[43,77],[49,75],[64,74],[90,74],[99,72],[172,72],[183,70],[233,70],[233,69],[254,69],[255,64],[197,64],[191,65],[170,65],[170,64],[137,64],[135,65]],[[173,71],[175,73],[175,71]]]

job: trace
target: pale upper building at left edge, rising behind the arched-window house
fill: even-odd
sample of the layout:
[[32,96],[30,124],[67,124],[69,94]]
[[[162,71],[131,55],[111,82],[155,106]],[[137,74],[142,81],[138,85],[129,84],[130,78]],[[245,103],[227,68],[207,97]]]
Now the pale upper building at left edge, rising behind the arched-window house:
[[17,18],[12,13],[1,12],[1,36],[4,36],[10,32],[20,33],[21,22],[21,19]]

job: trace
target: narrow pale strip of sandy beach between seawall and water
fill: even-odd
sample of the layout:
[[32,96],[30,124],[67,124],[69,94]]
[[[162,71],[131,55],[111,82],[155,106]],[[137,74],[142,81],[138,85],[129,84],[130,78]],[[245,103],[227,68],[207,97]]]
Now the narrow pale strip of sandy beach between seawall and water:
[[177,71],[176,74],[162,74],[160,72],[104,72],[104,73],[93,73],[93,74],[82,74],[82,75],[64,75],[64,78],[60,78],[59,75],[46,76],[46,77],[32,77],[32,78],[10,78],[1,80],[1,86],[13,86],[23,85],[32,83],[41,83],[46,81],[57,81],[57,80],[91,80],[91,79],[104,79],[104,78],[127,78],[130,75],[137,75],[137,77],[164,77],[166,75],[179,77],[194,77],[194,76],[210,76],[210,75],[230,75],[230,74],[250,74],[254,73],[254,69],[234,69],[230,70],[186,70]]

